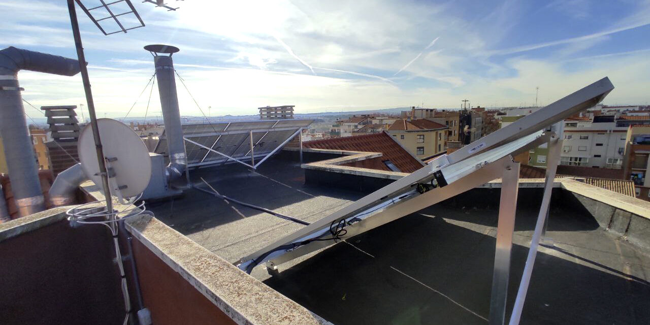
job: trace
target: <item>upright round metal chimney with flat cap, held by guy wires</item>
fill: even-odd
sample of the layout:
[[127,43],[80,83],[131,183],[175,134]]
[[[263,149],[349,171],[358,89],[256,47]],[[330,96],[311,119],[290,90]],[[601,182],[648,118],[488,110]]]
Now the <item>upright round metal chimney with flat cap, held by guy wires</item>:
[[[174,62],[172,61],[172,55],[179,49],[170,45],[147,45],[144,49],[153,55],[153,64],[156,68],[162,120],[164,120],[164,133],[169,154],[167,175],[168,181],[174,181],[183,177],[185,168],[187,168],[185,140],[183,140],[183,130],[181,129],[181,112],[178,108]],[[169,55],[159,55],[161,53]]]

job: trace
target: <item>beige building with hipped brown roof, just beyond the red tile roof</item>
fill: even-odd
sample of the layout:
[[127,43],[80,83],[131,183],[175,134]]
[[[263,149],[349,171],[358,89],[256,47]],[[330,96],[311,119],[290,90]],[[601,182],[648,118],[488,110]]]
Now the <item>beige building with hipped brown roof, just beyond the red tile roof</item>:
[[428,159],[447,152],[444,124],[427,119],[397,120],[388,128],[389,135],[418,159]]

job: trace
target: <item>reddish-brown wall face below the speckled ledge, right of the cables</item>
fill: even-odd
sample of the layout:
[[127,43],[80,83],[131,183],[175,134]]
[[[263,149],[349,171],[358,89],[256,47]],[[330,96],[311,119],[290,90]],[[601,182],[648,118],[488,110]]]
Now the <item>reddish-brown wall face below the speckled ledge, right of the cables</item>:
[[142,242],[133,239],[144,307],[155,325],[236,324]]

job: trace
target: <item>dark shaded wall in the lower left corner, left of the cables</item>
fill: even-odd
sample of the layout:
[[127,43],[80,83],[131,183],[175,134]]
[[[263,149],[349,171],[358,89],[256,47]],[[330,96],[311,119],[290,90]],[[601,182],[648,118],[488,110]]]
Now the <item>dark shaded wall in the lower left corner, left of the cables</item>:
[[114,254],[106,227],[67,220],[0,242],[0,324],[121,324]]

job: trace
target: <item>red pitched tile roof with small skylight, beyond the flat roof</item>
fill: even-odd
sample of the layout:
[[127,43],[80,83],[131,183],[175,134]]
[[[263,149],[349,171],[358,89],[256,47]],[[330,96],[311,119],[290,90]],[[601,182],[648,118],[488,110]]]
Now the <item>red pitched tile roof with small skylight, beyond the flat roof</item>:
[[406,149],[402,148],[393,138],[385,132],[369,135],[344,136],[342,138],[328,138],[303,142],[305,148],[335,149],[350,151],[381,152],[382,157],[367,159],[360,163],[364,168],[390,171],[383,163],[390,160],[399,168],[400,172],[412,173],[422,168],[422,163],[415,159]]

